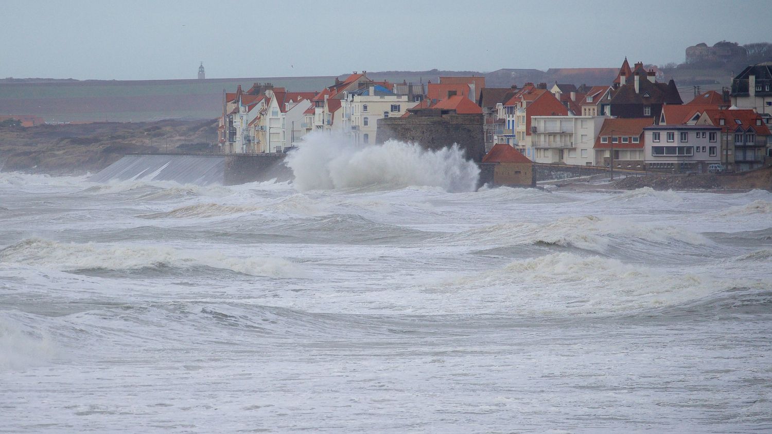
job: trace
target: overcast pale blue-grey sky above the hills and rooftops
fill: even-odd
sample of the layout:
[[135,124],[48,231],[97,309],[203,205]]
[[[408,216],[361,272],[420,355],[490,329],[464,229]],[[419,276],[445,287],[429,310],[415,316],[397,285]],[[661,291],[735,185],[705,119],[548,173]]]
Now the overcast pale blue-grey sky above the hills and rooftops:
[[0,1],[0,77],[337,75],[680,63],[687,46],[772,42],[772,2]]

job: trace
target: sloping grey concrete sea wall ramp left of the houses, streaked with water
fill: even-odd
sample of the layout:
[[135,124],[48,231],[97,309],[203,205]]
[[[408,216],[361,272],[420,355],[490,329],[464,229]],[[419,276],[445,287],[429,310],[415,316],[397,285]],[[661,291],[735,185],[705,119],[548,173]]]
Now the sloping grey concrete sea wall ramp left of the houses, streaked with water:
[[225,158],[219,155],[125,155],[89,181],[142,179],[212,185],[223,184],[224,178]]

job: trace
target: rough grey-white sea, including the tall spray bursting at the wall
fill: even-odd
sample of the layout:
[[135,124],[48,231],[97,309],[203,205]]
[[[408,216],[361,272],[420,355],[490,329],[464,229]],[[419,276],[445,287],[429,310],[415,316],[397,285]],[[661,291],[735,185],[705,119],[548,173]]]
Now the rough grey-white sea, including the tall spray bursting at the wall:
[[772,430],[772,193],[0,173],[0,432]]

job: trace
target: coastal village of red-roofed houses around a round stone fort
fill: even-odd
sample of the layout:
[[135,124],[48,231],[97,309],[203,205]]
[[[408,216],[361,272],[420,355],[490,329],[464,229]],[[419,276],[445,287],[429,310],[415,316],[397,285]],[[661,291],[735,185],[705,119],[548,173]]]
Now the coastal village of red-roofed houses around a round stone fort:
[[[662,80],[662,81],[659,81]],[[440,76],[389,83],[351,73],[319,92],[270,83],[223,96],[218,147],[282,154],[311,132],[354,144],[459,144],[498,185],[533,185],[535,164],[675,174],[741,172],[772,156],[772,66],[747,66],[731,88],[683,101],[675,82],[624,59],[611,83],[513,83]],[[494,173],[495,172],[495,173]]]

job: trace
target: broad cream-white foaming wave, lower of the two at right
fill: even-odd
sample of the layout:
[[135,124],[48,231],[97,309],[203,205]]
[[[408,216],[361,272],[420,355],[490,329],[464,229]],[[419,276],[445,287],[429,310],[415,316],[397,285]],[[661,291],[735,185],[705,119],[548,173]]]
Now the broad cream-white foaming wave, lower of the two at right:
[[[462,276],[426,290],[478,293],[517,314],[606,314],[666,307],[738,284],[699,273],[670,273],[601,256],[553,253]],[[758,283],[748,283],[758,285]],[[450,297],[450,296],[449,296]]]

